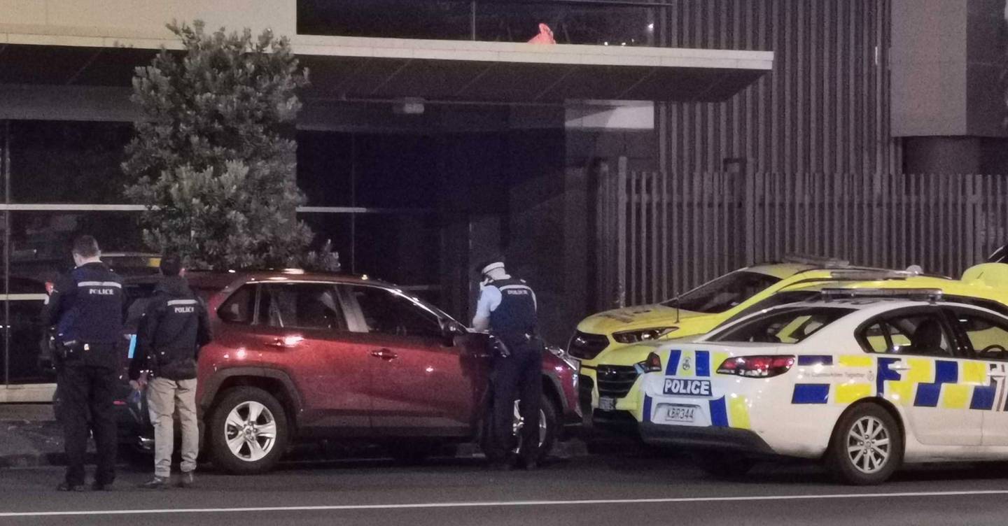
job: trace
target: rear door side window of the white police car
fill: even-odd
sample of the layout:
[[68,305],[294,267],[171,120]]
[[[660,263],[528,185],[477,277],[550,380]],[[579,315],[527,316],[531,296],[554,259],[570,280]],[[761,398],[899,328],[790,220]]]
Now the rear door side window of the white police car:
[[866,351],[894,355],[955,356],[953,339],[938,312],[912,312],[877,319],[860,338]]

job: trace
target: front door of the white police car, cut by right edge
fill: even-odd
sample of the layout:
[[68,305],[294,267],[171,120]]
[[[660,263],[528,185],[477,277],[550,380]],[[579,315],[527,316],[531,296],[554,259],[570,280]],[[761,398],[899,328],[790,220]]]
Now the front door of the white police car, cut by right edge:
[[983,310],[953,307],[949,314],[971,362],[970,408],[983,414],[984,445],[1008,445],[1008,318]]

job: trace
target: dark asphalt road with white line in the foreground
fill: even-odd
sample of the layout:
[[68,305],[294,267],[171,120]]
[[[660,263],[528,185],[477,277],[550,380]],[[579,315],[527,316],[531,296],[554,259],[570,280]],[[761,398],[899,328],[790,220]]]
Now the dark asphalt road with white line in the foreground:
[[653,452],[491,472],[480,459],[287,463],[230,477],[209,467],[196,490],[145,491],[124,469],[115,491],[53,491],[58,468],[0,470],[0,524],[745,525],[997,524],[1008,516],[1001,466],[920,467],[879,487],[833,482],[817,467],[764,465],[719,481]]

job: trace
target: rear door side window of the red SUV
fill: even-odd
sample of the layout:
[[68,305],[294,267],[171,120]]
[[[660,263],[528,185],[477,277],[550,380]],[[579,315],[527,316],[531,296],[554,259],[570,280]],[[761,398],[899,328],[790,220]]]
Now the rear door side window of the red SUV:
[[347,330],[347,319],[329,283],[268,283],[259,294],[259,322],[276,327]]

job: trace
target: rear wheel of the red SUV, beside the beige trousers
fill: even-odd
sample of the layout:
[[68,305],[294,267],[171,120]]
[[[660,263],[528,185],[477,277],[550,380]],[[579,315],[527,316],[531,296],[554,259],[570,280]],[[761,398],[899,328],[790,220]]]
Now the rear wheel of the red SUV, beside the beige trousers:
[[210,422],[214,466],[234,475],[269,471],[287,446],[287,417],[273,395],[256,387],[224,393]]

